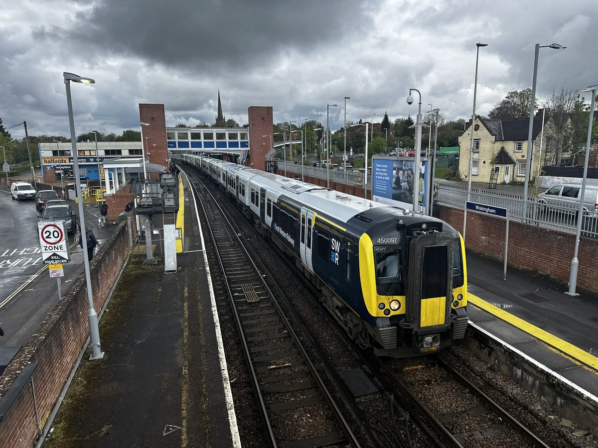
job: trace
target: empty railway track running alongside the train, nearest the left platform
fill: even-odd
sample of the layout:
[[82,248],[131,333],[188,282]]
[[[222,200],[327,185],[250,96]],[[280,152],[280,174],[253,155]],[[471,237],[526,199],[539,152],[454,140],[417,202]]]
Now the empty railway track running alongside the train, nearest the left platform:
[[244,241],[202,180],[195,177],[192,184],[209,223],[247,366],[247,381],[233,386],[251,388],[255,397],[236,409],[242,440],[248,434],[243,446],[360,446]]

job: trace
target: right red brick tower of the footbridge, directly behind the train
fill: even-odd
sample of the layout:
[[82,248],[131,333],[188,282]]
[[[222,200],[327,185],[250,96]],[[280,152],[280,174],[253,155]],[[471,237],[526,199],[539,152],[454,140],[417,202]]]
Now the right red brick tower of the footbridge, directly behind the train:
[[246,165],[264,171],[266,170],[266,154],[270,151],[270,137],[267,136],[271,136],[272,143],[274,143],[272,106],[249,106],[247,114],[250,154]]

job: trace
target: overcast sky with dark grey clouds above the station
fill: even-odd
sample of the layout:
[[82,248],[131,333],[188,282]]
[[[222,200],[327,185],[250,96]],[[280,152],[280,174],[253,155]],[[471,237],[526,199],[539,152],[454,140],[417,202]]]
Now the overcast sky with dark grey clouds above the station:
[[[164,103],[169,126],[213,123],[220,90],[226,118],[273,106],[274,122],[304,118],[341,127],[416,115],[471,116],[475,43],[477,112],[508,91],[598,83],[596,0],[4,0],[0,8],[0,117],[32,135],[69,134],[62,72],[72,84],[77,134],[139,127],[139,103]],[[417,102],[417,96],[416,96]],[[10,130],[24,135],[23,127]]]

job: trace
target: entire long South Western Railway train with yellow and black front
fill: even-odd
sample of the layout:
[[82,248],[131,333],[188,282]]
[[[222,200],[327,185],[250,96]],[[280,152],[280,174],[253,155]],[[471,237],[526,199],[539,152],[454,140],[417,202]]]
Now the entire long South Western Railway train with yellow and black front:
[[358,346],[410,357],[465,336],[465,244],[448,223],[222,159],[176,157],[295,260]]

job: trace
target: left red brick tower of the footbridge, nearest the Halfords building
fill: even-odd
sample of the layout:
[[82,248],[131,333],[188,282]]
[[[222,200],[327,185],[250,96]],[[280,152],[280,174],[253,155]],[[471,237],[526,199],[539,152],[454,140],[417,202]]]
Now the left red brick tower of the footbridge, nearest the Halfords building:
[[[166,143],[166,116],[164,115],[164,105],[140,104],[139,121],[149,123],[149,126],[141,126],[143,131],[142,143],[144,145],[145,157],[149,158],[150,163],[162,165],[168,170],[168,145]],[[149,173],[148,176],[150,179],[159,178],[158,173]]]

